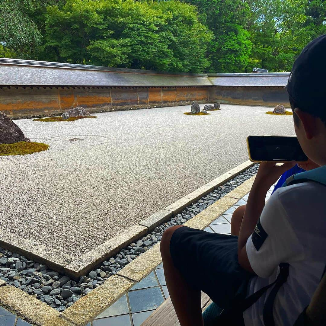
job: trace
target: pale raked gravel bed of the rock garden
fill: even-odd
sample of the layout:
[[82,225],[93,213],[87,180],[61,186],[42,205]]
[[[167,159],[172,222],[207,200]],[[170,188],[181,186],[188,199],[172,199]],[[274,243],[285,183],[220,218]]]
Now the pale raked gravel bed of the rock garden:
[[71,123],[16,120],[51,147],[0,157],[0,228],[78,258],[247,160],[249,134],[294,134],[291,117],[265,114],[270,108],[184,111],[189,106]]

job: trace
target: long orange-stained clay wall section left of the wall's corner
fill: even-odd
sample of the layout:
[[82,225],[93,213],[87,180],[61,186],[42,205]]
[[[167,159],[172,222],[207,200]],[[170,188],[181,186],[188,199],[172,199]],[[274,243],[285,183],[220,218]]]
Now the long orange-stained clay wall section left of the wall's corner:
[[11,117],[45,116],[82,106],[92,112],[208,101],[207,87],[2,87],[0,111]]

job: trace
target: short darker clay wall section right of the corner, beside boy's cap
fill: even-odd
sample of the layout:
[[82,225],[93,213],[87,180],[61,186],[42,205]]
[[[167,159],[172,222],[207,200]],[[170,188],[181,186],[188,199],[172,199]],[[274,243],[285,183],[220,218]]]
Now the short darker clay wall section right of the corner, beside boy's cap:
[[289,107],[288,93],[282,86],[213,86],[209,88],[209,102]]

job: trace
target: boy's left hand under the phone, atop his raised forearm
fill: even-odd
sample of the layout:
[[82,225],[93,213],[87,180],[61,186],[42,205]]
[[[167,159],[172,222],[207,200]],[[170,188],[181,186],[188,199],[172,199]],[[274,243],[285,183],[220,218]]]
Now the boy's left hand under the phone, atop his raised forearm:
[[283,165],[276,165],[274,162],[262,162],[259,164],[255,183],[264,184],[266,187],[274,185],[278,178],[287,170],[296,165],[295,161],[284,163]]

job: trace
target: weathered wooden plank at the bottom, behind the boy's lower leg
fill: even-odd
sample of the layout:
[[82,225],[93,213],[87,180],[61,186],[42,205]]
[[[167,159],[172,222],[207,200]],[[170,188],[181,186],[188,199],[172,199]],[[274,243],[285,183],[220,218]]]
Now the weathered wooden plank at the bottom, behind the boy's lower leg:
[[[201,292],[201,308],[206,308],[210,303],[209,296]],[[171,299],[165,300],[151,316],[149,316],[141,326],[180,326],[177,315],[174,311]]]

